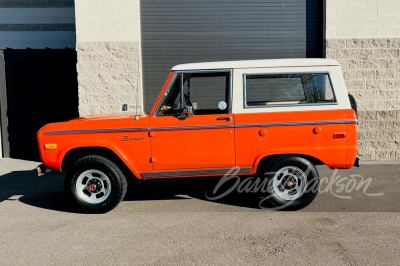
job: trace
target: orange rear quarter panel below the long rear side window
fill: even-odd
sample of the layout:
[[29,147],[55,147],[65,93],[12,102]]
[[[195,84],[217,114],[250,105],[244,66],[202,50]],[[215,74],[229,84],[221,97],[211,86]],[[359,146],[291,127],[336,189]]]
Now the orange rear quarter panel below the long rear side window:
[[[344,110],[235,114],[235,124],[334,121],[345,117]],[[320,132],[315,134],[314,128]],[[266,134],[261,136],[260,130]],[[334,133],[342,132],[346,132],[345,124],[236,127],[236,163],[240,167],[253,167],[254,172],[265,156],[302,154],[315,157],[330,168],[345,168],[346,139],[333,138]]]

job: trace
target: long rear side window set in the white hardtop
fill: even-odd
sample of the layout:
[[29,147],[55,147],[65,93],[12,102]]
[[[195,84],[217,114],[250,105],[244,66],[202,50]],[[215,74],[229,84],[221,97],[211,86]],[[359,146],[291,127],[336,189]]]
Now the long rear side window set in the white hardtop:
[[328,74],[245,75],[246,106],[336,103]]

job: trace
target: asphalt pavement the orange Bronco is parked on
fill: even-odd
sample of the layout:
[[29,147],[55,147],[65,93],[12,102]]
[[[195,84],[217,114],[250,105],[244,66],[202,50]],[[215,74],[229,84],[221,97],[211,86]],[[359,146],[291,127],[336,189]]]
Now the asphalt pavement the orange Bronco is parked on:
[[191,178],[141,181],[100,215],[38,164],[0,159],[0,265],[400,265],[397,163],[318,166],[321,192],[296,212],[237,188],[210,200],[220,179]]

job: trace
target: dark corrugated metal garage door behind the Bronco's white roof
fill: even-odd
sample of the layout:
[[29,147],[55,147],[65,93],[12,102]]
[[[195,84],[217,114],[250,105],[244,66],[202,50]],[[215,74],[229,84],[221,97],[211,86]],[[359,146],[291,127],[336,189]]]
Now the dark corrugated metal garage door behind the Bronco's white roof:
[[146,111],[177,64],[321,57],[321,2],[142,0]]

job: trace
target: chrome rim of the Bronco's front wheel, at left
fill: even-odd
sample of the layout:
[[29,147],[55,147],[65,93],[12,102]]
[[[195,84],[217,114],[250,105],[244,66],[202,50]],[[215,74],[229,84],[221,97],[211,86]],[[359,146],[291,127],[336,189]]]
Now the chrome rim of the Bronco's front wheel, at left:
[[79,175],[75,188],[82,200],[87,203],[97,204],[105,201],[110,196],[111,182],[103,172],[91,169]]

